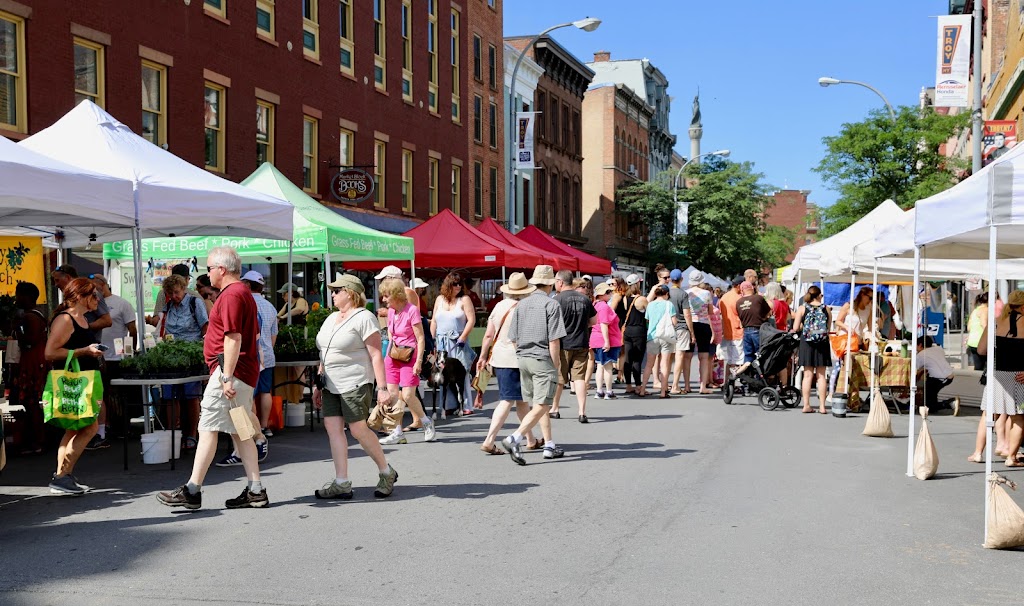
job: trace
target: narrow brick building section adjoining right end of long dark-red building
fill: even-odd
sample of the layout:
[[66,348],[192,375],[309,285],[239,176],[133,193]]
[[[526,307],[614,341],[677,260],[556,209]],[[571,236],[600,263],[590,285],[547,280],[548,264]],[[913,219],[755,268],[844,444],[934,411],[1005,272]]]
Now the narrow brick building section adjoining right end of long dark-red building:
[[468,96],[470,222],[505,221],[505,78],[502,4],[464,0],[469,16]]

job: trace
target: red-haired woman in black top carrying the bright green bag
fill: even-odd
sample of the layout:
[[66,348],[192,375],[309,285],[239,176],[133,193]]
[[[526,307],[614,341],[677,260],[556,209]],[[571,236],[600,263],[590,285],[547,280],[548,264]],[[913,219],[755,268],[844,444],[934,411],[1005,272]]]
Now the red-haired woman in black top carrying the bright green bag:
[[[68,352],[78,358],[82,371],[98,371],[103,352],[99,350],[96,336],[89,330],[85,314],[99,305],[99,293],[92,282],[78,277],[65,288],[65,308],[50,321],[50,336],[46,340],[46,359],[62,367]],[[82,494],[86,488],[78,483],[72,472],[85,445],[99,429],[97,423],[79,430],[68,430],[57,449],[57,469],[50,481],[53,494]]]

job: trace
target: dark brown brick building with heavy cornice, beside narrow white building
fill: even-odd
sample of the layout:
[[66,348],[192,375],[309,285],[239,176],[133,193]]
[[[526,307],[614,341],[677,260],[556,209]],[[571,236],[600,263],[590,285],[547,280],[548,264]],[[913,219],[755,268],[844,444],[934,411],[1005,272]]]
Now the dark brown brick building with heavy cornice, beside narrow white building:
[[[506,38],[522,51],[531,38]],[[525,210],[526,224],[581,246],[583,237],[583,97],[594,72],[550,37],[527,53],[544,70],[534,98],[538,170],[536,197]]]

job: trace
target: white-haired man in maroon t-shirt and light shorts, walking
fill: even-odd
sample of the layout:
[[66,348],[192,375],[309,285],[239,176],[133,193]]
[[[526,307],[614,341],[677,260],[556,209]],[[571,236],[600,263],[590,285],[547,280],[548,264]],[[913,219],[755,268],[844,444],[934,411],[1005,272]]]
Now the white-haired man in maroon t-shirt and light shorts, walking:
[[203,394],[199,418],[199,446],[188,482],[170,492],[160,492],[157,501],[168,507],[199,509],[203,506],[203,479],[217,452],[217,433],[230,434],[234,451],[242,458],[248,485],[227,509],[263,508],[270,505],[259,477],[256,444],[252,437],[240,440],[230,409],[245,409],[253,423],[259,420],[248,405],[259,379],[259,331],[256,301],[249,287],[241,282],[242,259],[230,247],[217,247],[207,258],[207,272],[220,296],[210,312],[210,324],[203,355],[210,366],[210,382]]

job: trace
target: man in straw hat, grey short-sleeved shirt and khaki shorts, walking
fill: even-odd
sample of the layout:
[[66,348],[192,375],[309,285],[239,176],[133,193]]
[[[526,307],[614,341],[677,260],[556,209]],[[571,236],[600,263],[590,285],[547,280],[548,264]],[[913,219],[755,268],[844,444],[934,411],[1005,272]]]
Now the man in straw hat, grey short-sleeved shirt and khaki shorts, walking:
[[561,338],[565,336],[561,306],[550,297],[554,284],[555,271],[551,265],[538,265],[528,285],[506,291],[510,295],[529,294],[512,313],[508,333],[519,357],[522,399],[532,406],[519,429],[502,440],[502,446],[516,465],[526,465],[522,436],[538,423],[544,434],[544,458],[558,459],[564,454],[551,437],[548,417],[560,380]]

